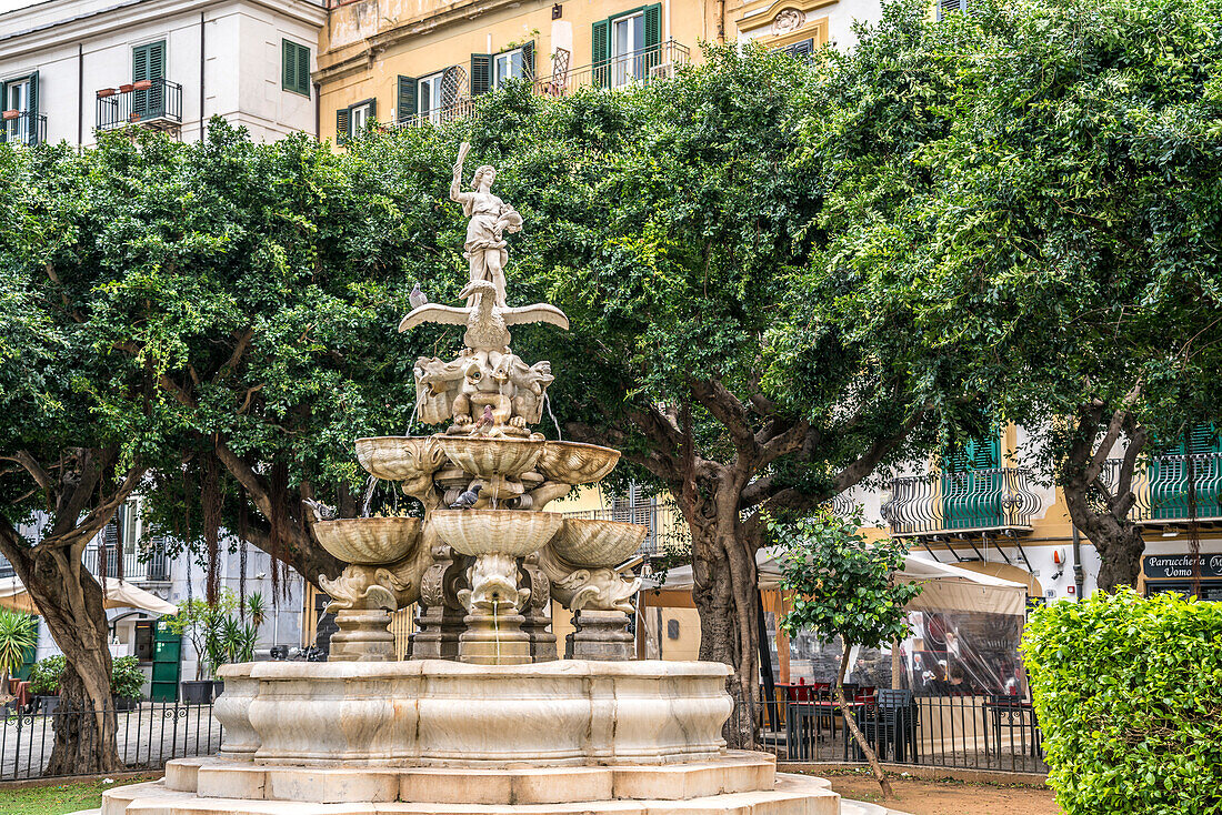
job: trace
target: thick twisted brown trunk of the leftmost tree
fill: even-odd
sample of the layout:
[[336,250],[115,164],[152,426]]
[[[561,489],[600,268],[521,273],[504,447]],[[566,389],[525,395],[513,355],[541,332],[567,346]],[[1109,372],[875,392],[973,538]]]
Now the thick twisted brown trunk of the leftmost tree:
[[120,771],[123,761],[110,699],[109,624],[101,587],[75,550],[35,549],[23,560],[27,568],[18,576],[66,661],[55,744],[45,773]]

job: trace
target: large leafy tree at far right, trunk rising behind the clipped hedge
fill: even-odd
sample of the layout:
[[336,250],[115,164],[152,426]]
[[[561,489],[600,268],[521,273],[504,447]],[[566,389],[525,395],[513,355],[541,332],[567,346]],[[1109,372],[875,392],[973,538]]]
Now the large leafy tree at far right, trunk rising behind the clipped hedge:
[[[1222,409],[1220,10],[891,7],[865,42],[891,54],[880,83],[852,92],[869,104],[814,122],[820,154],[847,156],[826,165],[830,257],[873,281],[842,319],[873,330],[902,302],[914,342],[974,365],[993,418],[1026,426],[1020,455],[1063,488],[1103,589],[1138,577],[1143,457]],[[929,101],[899,122],[886,111],[903,98]]]

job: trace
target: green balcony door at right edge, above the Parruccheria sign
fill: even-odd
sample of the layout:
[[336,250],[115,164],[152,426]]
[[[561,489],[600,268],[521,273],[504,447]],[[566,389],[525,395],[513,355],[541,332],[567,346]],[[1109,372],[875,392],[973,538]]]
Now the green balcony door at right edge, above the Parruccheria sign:
[[[1206,422],[1193,426],[1178,445],[1150,462],[1150,505],[1158,521],[1222,517],[1222,428]],[[1193,490],[1189,490],[1191,478]],[[1195,496],[1190,494],[1195,491]]]

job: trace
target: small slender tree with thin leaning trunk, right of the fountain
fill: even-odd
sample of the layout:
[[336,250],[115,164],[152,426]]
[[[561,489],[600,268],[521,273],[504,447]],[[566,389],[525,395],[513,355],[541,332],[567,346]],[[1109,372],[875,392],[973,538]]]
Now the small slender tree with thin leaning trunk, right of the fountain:
[[781,628],[796,637],[811,630],[824,641],[841,638],[843,654],[836,676],[836,698],[844,725],[874,770],[882,794],[892,798],[879,756],[862,734],[844,699],[844,674],[853,646],[882,648],[908,637],[904,606],[921,587],[896,579],[904,567],[908,546],[895,539],[868,543],[859,529],[858,513],[838,518],[821,512],[792,523],[769,525],[781,549],[781,588],[792,593],[792,607],[781,618]]

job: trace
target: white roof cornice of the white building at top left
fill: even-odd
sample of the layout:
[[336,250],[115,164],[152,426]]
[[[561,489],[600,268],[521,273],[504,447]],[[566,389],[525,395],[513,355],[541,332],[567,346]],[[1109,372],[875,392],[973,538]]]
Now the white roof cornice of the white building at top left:
[[[11,34],[0,35],[6,59],[46,51],[64,45],[75,45],[86,39],[103,37],[132,26],[155,22],[185,12],[241,9],[260,6],[285,15],[298,22],[321,28],[326,22],[326,9],[308,0],[130,0],[98,9],[77,17],[70,17]],[[38,9],[33,6],[32,9]],[[13,11],[0,17],[6,26],[21,24],[22,12]]]

